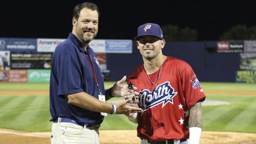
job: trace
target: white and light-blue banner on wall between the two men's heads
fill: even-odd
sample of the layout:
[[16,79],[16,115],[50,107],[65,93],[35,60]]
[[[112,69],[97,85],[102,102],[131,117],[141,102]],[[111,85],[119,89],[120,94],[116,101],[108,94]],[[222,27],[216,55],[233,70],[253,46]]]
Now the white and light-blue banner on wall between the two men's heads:
[[95,53],[132,53],[132,40],[92,40]]

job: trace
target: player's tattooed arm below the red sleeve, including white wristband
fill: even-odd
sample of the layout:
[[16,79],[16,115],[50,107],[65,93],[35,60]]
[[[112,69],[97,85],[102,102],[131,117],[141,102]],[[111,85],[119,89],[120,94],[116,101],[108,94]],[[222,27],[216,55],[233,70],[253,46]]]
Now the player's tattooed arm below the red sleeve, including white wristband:
[[197,102],[189,109],[189,140],[188,144],[199,144],[201,136],[201,128],[203,124],[203,111],[201,108],[201,102]]

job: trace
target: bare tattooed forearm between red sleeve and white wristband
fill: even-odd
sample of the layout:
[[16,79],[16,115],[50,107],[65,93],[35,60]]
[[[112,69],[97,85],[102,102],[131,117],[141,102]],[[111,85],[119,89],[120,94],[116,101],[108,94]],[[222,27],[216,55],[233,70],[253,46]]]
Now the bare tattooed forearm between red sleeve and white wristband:
[[202,128],[203,111],[201,108],[201,102],[197,102],[196,104],[194,104],[194,106],[190,108],[189,112],[190,112],[190,115],[189,115],[188,126]]

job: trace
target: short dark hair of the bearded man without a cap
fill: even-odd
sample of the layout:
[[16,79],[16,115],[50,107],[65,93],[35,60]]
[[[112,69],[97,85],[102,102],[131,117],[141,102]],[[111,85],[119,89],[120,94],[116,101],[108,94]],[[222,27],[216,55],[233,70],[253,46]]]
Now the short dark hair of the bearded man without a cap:
[[90,9],[92,11],[97,11],[98,16],[100,17],[99,8],[98,8],[98,6],[96,4],[94,4],[92,2],[84,2],[82,4],[77,4],[77,6],[74,8],[73,17],[75,17],[76,20],[79,18],[80,11],[83,8],[88,8],[88,9]]

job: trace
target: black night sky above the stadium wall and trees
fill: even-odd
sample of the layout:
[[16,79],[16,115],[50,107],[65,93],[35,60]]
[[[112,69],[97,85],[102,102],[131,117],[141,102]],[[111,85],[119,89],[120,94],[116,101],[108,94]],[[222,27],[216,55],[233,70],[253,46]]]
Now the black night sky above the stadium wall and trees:
[[[66,38],[82,0],[1,0],[0,37]],[[199,40],[218,40],[237,24],[256,25],[255,0],[88,0],[100,8],[97,39],[133,39],[143,23],[188,26]]]

